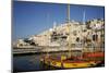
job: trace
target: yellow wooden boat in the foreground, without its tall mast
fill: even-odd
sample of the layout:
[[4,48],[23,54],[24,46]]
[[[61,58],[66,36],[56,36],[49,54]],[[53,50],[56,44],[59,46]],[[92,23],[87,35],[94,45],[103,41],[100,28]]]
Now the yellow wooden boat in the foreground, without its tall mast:
[[44,62],[47,65],[56,66],[56,68],[63,68],[63,69],[71,69],[71,68],[89,68],[95,66],[101,61],[95,61],[95,60],[85,60],[80,58],[65,58],[61,57],[61,59],[52,58],[52,57],[46,57],[41,59],[41,62]]

